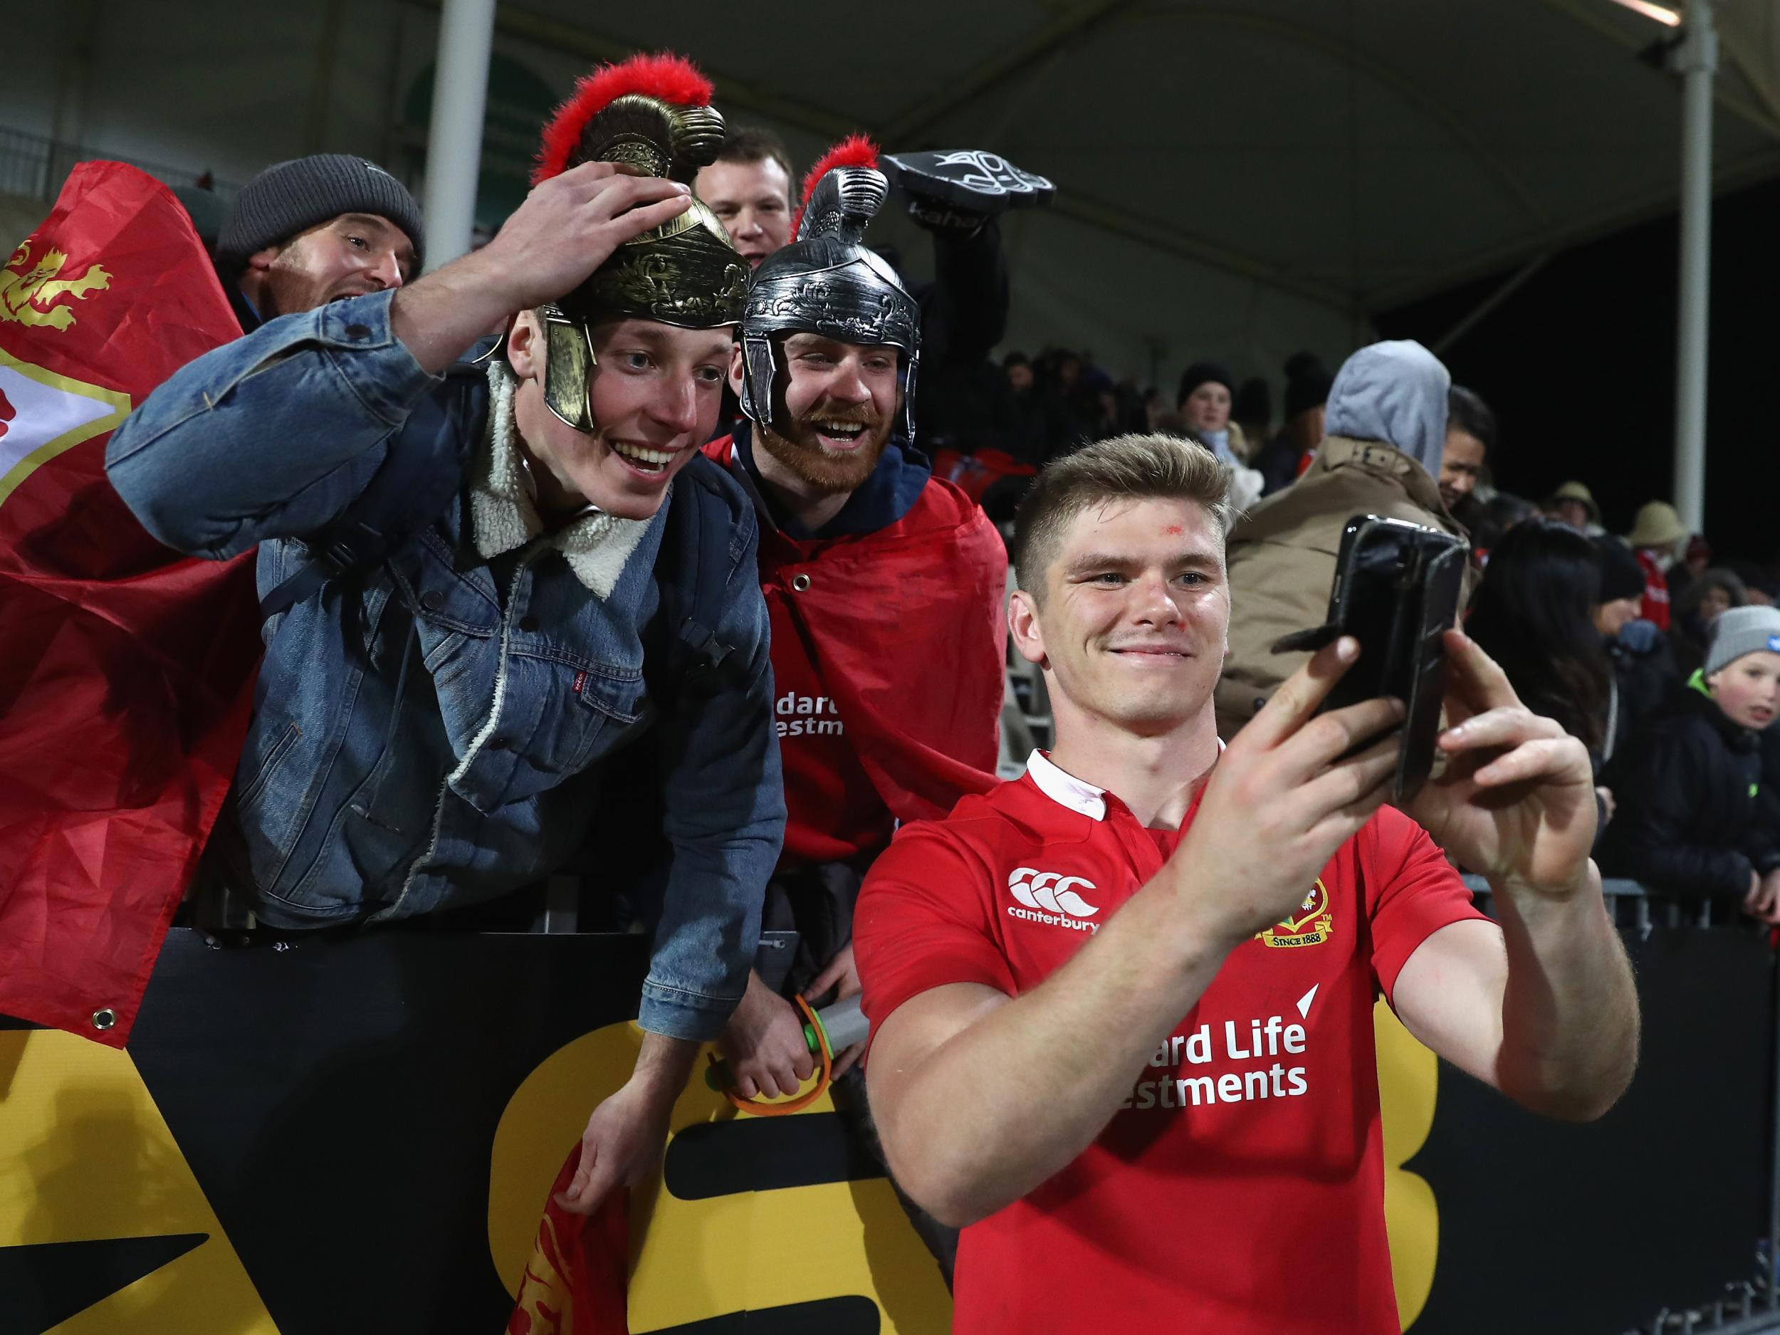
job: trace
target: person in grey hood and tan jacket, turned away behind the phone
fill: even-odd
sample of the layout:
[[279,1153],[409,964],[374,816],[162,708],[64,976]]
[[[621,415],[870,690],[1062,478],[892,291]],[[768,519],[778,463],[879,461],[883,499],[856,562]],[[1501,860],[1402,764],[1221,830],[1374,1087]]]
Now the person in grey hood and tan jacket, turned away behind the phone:
[[1232,529],[1230,653],[1218,682],[1225,740],[1310,657],[1273,653],[1273,643],[1323,623],[1349,518],[1383,514],[1463,536],[1435,482],[1451,384],[1417,342],[1362,347],[1335,374],[1315,461]]

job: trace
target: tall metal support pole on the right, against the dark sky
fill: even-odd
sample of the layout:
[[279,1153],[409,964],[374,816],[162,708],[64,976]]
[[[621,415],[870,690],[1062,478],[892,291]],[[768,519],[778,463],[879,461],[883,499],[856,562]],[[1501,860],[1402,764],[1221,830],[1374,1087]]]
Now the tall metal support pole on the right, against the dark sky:
[[1680,135],[1680,303],[1675,328],[1675,511],[1705,527],[1707,295],[1712,278],[1712,75],[1718,30],[1712,0],[1687,0]]

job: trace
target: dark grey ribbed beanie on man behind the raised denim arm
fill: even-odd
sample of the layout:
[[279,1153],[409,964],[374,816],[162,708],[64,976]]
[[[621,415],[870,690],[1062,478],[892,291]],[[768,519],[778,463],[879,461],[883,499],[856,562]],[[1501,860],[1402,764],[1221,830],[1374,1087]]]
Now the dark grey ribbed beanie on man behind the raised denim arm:
[[217,233],[217,271],[233,279],[247,256],[290,240],[340,214],[390,219],[415,244],[420,263],[425,237],[420,205],[408,187],[376,162],[349,153],[317,153],[274,162],[247,183]]

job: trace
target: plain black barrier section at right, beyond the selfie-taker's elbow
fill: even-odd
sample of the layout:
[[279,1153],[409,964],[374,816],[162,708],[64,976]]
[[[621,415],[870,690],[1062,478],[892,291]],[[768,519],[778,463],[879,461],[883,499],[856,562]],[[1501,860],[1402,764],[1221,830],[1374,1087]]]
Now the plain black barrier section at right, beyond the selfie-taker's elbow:
[[1766,1234],[1773,956],[1750,929],[1627,934],[1643,1006],[1638,1077],[1584,1127],[1440,1070],[1410,1168],[1445,1207],[1417,1335],[1581,1333],[1753,1274]]

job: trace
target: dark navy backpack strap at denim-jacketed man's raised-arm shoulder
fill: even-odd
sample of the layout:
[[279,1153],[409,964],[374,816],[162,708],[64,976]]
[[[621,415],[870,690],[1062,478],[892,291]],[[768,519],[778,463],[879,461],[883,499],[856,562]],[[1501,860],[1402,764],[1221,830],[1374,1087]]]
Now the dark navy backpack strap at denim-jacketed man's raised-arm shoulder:
[[463,486],[486,413],[484,363],[452,363],[443,392],[415,404],[392,436],[370,484],[338,520],[306,539],[303,566],[260,600],[260,619],[313,596],[329,580],[376,570],[390,552],[443,514]]

